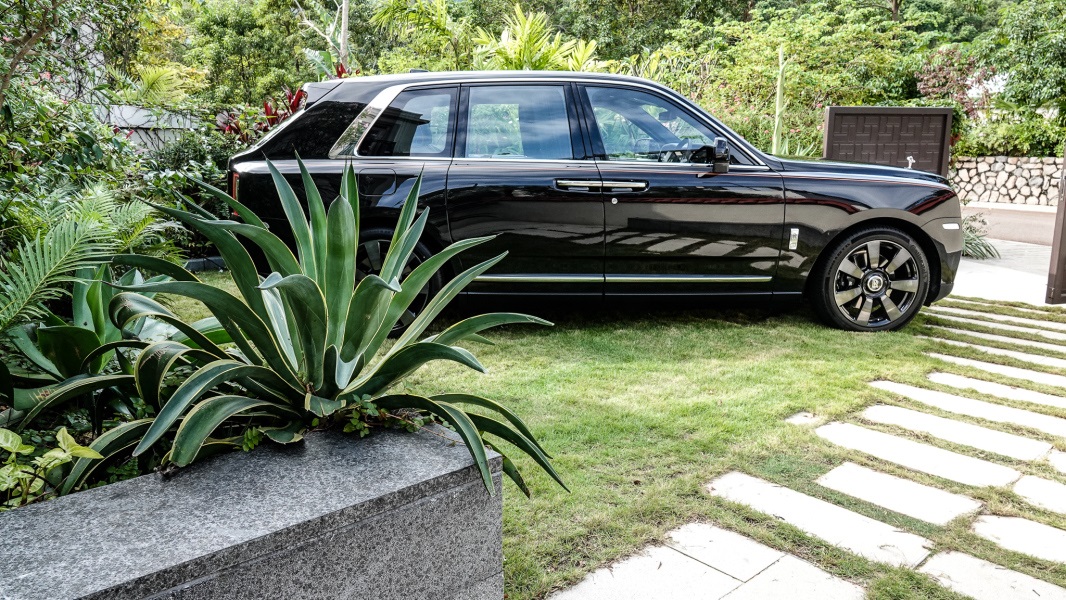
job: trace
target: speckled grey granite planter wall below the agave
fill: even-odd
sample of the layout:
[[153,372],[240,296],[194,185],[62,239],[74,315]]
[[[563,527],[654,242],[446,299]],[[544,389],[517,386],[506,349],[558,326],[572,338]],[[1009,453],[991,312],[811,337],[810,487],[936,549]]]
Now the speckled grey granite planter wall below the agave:
[[499,455],[489,497],[437,434],[317,433],[0,514],[0,599],[500,600]]

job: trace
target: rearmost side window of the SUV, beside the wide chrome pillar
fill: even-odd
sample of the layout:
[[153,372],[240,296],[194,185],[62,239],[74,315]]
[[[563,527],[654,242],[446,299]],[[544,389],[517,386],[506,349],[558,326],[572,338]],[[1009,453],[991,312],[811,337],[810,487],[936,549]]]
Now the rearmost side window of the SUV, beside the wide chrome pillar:
[[451,157],[455,88],[400,93],[359,146],[364,157]]

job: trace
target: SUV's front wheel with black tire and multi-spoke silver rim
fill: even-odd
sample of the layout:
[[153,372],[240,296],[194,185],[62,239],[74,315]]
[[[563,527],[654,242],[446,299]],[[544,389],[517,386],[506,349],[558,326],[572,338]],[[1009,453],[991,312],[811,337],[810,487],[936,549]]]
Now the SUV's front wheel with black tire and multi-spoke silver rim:
[[893,228],[857,231],[828,248],[812,276],[811,302],[828,325],[891,331],[918,314],[930,289],[928,258]]

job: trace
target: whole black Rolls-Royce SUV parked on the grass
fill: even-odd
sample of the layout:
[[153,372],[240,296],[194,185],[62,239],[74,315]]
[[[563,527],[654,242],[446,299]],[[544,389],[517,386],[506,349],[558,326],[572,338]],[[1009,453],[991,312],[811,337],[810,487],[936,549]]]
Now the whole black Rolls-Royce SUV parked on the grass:
[[431,225],[414,260],[488,234],[453,269],[510,253],[471,293],[806,295],[835,326],[881,330],[948,295],[958,267],[959,201],[942,177],[768,156],[647,80],[421,72],[304,91],[300,112],[232,158],[230,193],[284,237],[263,159],[300,193],[298,153],[326,198],[354,164],[364,273],[419,175]]

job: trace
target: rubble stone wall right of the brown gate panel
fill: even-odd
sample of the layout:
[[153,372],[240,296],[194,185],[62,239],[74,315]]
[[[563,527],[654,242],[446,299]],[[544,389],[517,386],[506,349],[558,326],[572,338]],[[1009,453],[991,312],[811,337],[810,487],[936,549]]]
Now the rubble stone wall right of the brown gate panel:
[[1063,159],[958,157],[948,175],[963,201],[1057,206]]

